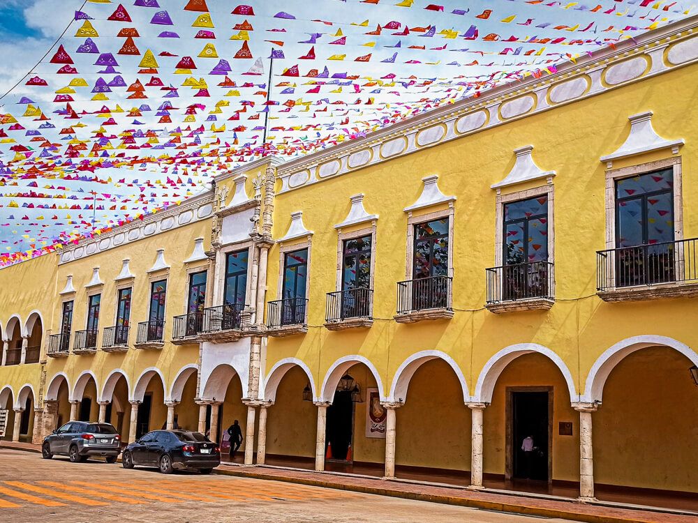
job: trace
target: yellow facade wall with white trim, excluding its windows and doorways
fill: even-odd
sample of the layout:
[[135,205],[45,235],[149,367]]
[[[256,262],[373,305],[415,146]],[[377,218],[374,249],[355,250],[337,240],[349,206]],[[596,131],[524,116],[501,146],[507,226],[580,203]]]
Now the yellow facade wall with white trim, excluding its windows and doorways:
[[[614,246],[607,247],[613,241],[614,201],[607,195],[612,176],[652,172],[653,166],[674,169],[678,181],[676,239],[698,237],[698,127],[687,117],[698,76],[698,38],[687,32],[693,26],[696,20],[674,24],[634,47],[629,43],[570,64],[545,81],[498,89],[353,144],[285,164],[258,160],[219,176],[215,190],[191,204],[197,216],[191,222],[181,218],[184,211],[170,209],[149,218],[158,224],[151,232],[148,224],[138,233],[128,226],[121,234],[133,232],[133,241],[123,245],[114,240],[117,230],[103,250],[99,239],[85,241],[70,248],[71,259],[46,256],[3,269],[3,340],[17,344],[17,335],[7,332],[15,314],[24,329],[20,345],[22,335],[31,338],[27,321],[38,312],[43,348],[40,363],[0,367],[0,408],[11,408],[10,402],[24,407],[27,392],[21,391],[28,384],[33,408],[57,400],[59,420],[74,414],[66,404],[71,400],[91,397],[94,419],[98,401],[112,402],[110,419],[117,424],[121,413],[118,428],[127,434],[134,430],[128,402],[142,402],[143,393],[151,393],[150,430],[166,423],[165,403],[176,402],[181,427],[210,427],[216,435],[233,419],[256,427],[246,432],[242,447],[248,460],[253,451],[264,450],[270,456],[315,459],[317,465],[318,411],[333,402],[339,378],[349,373],[363,400],[366,389],[375,387],[385,406],[395,409],[398,467],[467,472],[481,459],[487,479],[510,477],[516,452],[510,448],[507,404],[512,391],[546,388],[549,480],[580,481],[580,458],[584,471],[591,450],[580,438],[580,425],[593,411],[597,483],[695,492],[698,427],[692,420],[698,416],[698,395],[688,372],[698,363],[695,274],[688,266],[677,269],[686,281],[660,286],[661,297],[648,288],[639,289],[646,293],[643,300],[602,296],[596,255]],[[647,63],[644,73],[632,77],[628,63],[633,60]],[[533,108],[519,111],[519,100],[527,97]],[[629,122],[646,112],[653,113],[654,135],[642,123],[649,116]],[[479,125],[471,126],[473,121]],[[522,172],[514,151],[529,144],[533,152],[526,158],[539,174],[509,183],[507,174]],[[623,151],[624,144],[629,149],[619,158],[601,160]],[[434,175],[436,183],[428,178]],[[501,264],[498,202],[541,191],[549,197],[554,303],[540,310],[493,312],[485,306],[486,269]],[[364,217],[336,227],[352,217],[357,208],[350,197],[358,194]],[[447,216],[450,225],[451,317],[396,321],[397,282],[412,278],[410,231],[435,216]],[[167,220],[178,226],[165,227]],[[339,290],[338,248],[352,234],[373,235],[373,323],[332,331],[325,325],[327,293]],[[196,252],[195,238],[204,238],[206,255],[187,262]],[[89,254],[89,245],[99,252]],[[78,248],[85,249],[80,256]],[[282,298],[285,253],[299,248],[309,249],[307,312],[303,328],[281,336],[283,329],[269,328],[269,302]],[[168,268],[149,272],[161,249]],[[206,305],[221,305],[225,255],[240,250],[248,252],[249,268],[239,335],[199,335],[173,344],[173,317],[187,312],[191,273],[207,271]],[[135,277],[115,282],[126,258]],[[684,261],[693,263],[688,257]],[[103,285],[86,288],[94,268]],[[75,292],[60,294],[68,276]],[[135,348],[135,326],[148,317],[151,282],[163,279],[168,289],[162,347]],[[84,328],[89,294],[101,292],[101,347],[103,327],[114,325],[117,287],[124,285],[133,285],[128,350],[47,357],[47,338],[60,331],[63,301],[75,301],[75,332]],[[306,385],[311,388],[306,399],[319,407],[302,400]],[[215,418],[211,405],[221,409],[217,424],[210,420]],[[387,463],[386,440],[364,436],[365,409],[365,402],[353,406],[352,460]],[[477,409],[484,416],[481,452],[471,441]],[[208,420],[202,425],[204,410]],[[266,446],[258,449],[254,439],[261,432],[262,410]],[[6,439],[17,415],[20,411],[10,413]],[[35,424],[34,414],[31,418]],[[561,424],[571,424],[572,434],[561,434]],[[28,434],[32,430],[34,425]],[[34,430],[35,440],[40,433]],[[581,483],[582,497],[588,497],[584,478]]]

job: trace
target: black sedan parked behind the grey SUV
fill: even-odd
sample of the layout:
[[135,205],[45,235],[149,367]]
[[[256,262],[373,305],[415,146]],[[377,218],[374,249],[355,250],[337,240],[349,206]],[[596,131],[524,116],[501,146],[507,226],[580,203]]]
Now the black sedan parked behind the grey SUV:
[[209,474],[221,464],[221,449],[200,432],[154,430],[124,449],[124,469],[135,465],[158,467],[163,474],[174,469],[198,469]]

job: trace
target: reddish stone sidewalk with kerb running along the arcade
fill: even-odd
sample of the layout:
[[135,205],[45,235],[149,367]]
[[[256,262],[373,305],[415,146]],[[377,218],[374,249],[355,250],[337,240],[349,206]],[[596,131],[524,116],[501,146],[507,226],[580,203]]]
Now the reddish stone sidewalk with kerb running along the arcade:
[[[40,446],[0,441],[0,448],[40,453]],[[260,480],[285,481],[351,492],[363,492],[402,499],[496,510],[497,512],[556,517],[587,523],[698,523],[698,513],[664,510],[621,503],[579,503],[572,499],[538,494],[484,490],[474,492],[454,485],[384,480],[346,473],[315,472],[279,467],[221,464],[214,472]]]

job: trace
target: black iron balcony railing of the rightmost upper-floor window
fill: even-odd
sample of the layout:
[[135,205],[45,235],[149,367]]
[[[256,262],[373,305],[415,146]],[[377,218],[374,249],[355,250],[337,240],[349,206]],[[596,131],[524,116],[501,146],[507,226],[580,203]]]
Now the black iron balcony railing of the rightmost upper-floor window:
[[698,238],[596,252],[597,289],[698,280]]

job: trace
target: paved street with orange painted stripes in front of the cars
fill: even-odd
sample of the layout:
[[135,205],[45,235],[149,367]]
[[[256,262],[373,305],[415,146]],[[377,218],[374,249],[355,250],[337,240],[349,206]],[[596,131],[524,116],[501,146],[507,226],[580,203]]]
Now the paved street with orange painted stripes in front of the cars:
[[[265,480],[72,464],[0,449],[0,513],[13,522],[534,522],[522,517]],[[549,520],[562,522],[563,520]]]

